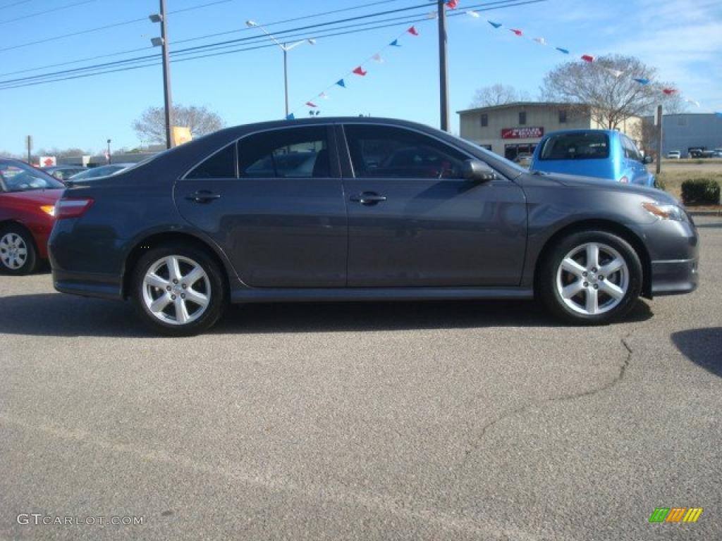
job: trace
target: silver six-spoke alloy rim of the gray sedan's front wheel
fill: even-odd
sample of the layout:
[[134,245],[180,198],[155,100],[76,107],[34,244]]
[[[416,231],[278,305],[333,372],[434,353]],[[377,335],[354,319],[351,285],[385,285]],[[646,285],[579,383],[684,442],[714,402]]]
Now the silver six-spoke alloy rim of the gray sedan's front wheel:
[[630,271],[617,250],[601,242],[588,242],[562,258],[556,283],[567,307],[583,315],[598,315],[614,309],[625,298]]

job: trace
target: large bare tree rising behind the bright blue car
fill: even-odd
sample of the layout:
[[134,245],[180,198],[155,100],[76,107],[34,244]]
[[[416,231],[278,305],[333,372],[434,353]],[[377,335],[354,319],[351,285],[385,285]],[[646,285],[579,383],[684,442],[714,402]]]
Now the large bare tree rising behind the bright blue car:
[[671,85],[656,82],[656,69],[638,58],[612,55],[591,63],[575,61],[558,66],[544,77],[541,92],[547,100],[590,111],[593,120],[614,129],[632,116],[650,115],[659,103],[681,110],[684,101],[676,92],[670,96],[662,92],[668,87]]

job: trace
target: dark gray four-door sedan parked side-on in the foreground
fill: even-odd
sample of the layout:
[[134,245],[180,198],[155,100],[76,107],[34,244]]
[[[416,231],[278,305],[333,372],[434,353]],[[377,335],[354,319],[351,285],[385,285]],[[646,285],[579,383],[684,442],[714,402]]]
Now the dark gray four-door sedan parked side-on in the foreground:
[[50,252],[58,291],[132,299],[175,336],[227,302],[536,295],[601,324],[697,286],[695,225],[661,190],[532,174],[427,126],[356,117],[227,128],[72,182]]

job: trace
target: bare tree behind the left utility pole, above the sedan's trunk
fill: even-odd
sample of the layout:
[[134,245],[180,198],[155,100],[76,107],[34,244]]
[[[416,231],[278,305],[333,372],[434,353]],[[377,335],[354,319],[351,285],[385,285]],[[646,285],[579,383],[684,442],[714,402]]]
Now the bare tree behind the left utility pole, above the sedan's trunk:
[[[207,107],[184,107],[173,105],[175,126],[186,126],[191,129],[193,137],[213,133],[225,126],[222,118]],[[163,107],[148,107],[138,120],[132,124],[133,129],[142,141],[162,143],[165,141],[165,110]]]

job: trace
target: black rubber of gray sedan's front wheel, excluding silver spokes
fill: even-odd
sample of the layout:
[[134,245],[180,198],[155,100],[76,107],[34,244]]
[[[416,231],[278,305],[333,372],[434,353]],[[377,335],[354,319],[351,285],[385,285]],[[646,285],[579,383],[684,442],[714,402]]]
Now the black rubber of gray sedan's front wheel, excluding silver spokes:
[[[626,271],[618,271],[612,274],[611,278],[599,273],[601,280],[599,280],[599,276],[591,272],[588,272],[588,275],[584,275],[588,276],[588,278],[575,278],[575,276],[572,275],[572,280],[570,283],[567,283],[566,280],[569,279],[571,273],[560,271],[562,260],[570,254],[570,252],[573,252],[573,250],[581,250],[581,247],[588,244],[597,244],[615,250],[622,260],[624,260]],[[611,252],[601,250],[600,260],[605,255],[609,258],[610,253]],[[585,265],[586,262],[583,261],[580,266]],[[590,269],[587,268],[586,271],[590,271]],[[625,278],[622,278],[622,273],[625,273]],[[544,261],[541,262],[538,278],[537,287],[539,289],[539,296],[552,314],[573,325],[606,325],[622,318],[629,312],[632,306],[634,306],[642,291],[643,268],[639,255],[625,239],[606,231],[590,230],[569,234],[557,242],[556,245],[549,250]],[[607,285],[603,283],[607,278],[609,278],[607,284],[617,285],[615,281],[619,281],[619,284],[626,284],[625,294],[623,296],[619,294],[621,299],[614,299],[611,295],[606,294],[606,291],[601,291],[600,286],[605,287]],[[559,279],[561,286],[567,283],[567,285],[573,285],[577,288],[582,286],[583,289],[581,289],[576,296],[565,301],[559,291],[559,286],[557,286],[557,279]],[[588,286],[584,286],[585,283],[588,284]],[[590,287],[593,288],[594,285],[597,286],[597,288],[594,288],[596,292],[590,291],[589,289]],[[618,289],[623,291],[622,287]],[[601,313],[582,313],[578,311],[586,309],[586,306],[588,306],[586,305],[587,291],[595,294],[595,298],[599,300],[600,304],[601,301],[606,299],[608,308]],[[567,304],[567,302],[569,304]],[[570,304],[577,307],[577,309],[571,307]],[[581,304],[584,304],[584,307],[582,307]],[[602,308],[602,306],[599,308]],[[588,312],[593,312],[593,310],[589,310]]]

